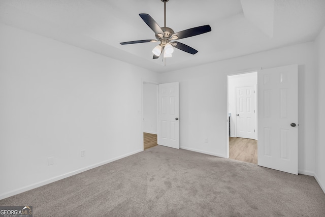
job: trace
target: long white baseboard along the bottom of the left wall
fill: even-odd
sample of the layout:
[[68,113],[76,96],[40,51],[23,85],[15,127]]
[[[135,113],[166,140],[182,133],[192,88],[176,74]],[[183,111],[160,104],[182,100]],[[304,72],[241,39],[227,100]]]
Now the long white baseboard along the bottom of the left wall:
[[37,183],[34,183],[34,184],[30,184],[30,185],[27,185],[27,186],[25,186],[23,188],[16,189],[14,191],[6,192],[6,193],[0,195],[0,200],[5,199],[7,197],[17,195],[17,194],[20,194],[20,193],[23,193],[23,192],[26,192],[26,191],[29,191],[29,190],[32,190],[32,189],[36,189],[36,188],[41,187],[41,186],[43,186],[45,184],[49,184],[49,183],[52,183],[54,181],[61,180],[63,178],[67,178],[67,177],[76,175],[78,173],[82,173],[84,171],[87,171],[87,170],[102,166],[104,164],[108,164],[110,162],[113,162],[113,161],[125,158],[127,156],[131,156],[133,154],[139,153],[141,151],[143,151],[143,149],[136,150],[136,151],[133,151],[133,152],[130,152],[130,153],[126,153],[126,154],[123,154],[122,156],[119,156],[119,157],[116,157],[116,158],[113,158],[113,159],[110,159],[110,160],[107,160],[107,161],[103,161],[103,162],[93,164],[93,165],[90,165],[90,166],[87,166],[87,167],[84,167],[84,168],[81,168],[81,169],[78,169],[78,170],[75,170],[75,171],[71,171],[69,173],[65,173],[65,174],[58,175],[58,176],[55,176],[53,178],[49,178],[49,179],[46,179],[46,180],[43,180],[43,181],[40,181],[40,182],[37,182]]

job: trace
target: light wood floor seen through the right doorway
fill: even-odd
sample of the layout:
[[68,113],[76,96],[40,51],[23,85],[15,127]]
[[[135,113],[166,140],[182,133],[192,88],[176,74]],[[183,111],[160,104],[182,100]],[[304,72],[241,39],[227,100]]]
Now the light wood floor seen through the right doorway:
[[229,158],[257,164],[257,140],[230,137]]

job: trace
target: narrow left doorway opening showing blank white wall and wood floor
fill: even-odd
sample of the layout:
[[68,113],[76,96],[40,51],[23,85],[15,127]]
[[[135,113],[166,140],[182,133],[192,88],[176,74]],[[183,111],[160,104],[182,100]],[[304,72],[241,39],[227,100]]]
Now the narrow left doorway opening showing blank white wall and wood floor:
[[158,144],[158,84],[142,84],[143,149]]

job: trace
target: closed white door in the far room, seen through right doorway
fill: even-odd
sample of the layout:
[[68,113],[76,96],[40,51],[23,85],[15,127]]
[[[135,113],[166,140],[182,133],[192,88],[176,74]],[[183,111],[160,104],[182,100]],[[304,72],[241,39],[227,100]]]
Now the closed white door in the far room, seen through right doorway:
[[236,87],[236,136],[255,139],[255,86]]

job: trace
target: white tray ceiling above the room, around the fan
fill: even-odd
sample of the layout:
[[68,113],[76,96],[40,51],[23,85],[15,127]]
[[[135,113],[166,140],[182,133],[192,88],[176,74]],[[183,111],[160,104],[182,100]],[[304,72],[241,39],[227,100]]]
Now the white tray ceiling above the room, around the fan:
[[209,24],[212,31],[179,41],[197,49],[175,49],[152,59],[158,43],[139,13],[164,26],[161,0],[1,0],[0,22],[155,72],[313,41],[325,25],[325,0],[170,0],[167,26],[174,32]]

